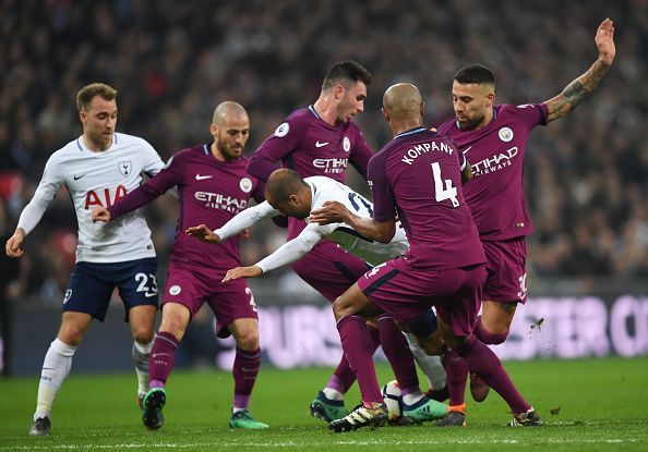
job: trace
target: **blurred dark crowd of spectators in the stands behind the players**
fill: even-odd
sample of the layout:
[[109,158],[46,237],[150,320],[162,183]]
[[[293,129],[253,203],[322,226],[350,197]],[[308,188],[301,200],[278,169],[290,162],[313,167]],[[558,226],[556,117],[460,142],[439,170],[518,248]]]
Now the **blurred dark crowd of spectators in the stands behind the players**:
[[[146,138],[165,160],[206,143],[214,107],[237,100],[250,112],[252,154],[283,118],[316,99],[333,63],[356,59],[374,75],[357,122],[377,149],[389,139],[380,107],[391,84],[419,86],[430,125],[452,115],[453,75],[471,62],[494,70],[500,102],[541,102],[595,61],[593,35],[605,16],[616,25],[614,65],[576,112],[538,127],[528,144],[525,192],[536,225],[528,269],[537,283],[530,293],[555,281],[645,289],[646,0],[3,0],[2,241],[13,233],[48,157],[82,133],[74,97],[87,83],[118,88],[118,130]],[[367,192],[357,174],[348,183]],[[148,213],[164,278],[176,201],[159,199]],[[26,255],[0,259],[5,295],[60,304],[75,228],[61,188],[27,237]],[[244,262],[284,237],[274,225],[254,230]],[[288,290],[292,278],[285,269],[263,280]]]

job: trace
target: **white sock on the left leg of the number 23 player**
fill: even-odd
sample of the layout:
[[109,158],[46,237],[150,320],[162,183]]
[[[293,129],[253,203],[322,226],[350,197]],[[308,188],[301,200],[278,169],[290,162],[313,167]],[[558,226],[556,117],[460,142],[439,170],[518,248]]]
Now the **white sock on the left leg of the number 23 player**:
[[40,371],[34,420],[39,417],[51,416],[53,401],[65,377],[70,374],[72,356],[75,350],[75,346],[68,345],[58,338],[49,344],[49,349],[45,354],[45,361],[43,362],[43,370]]

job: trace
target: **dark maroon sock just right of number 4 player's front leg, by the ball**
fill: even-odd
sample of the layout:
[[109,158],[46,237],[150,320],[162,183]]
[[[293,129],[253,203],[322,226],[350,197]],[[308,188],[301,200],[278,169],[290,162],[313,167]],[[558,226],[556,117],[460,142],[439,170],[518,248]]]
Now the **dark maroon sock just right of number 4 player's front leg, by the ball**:
[[405,334],[403,334],[394,319],[387,316],[382,316],[379,319],[379,330],[383,352],[385,352],[385,356],[389,361],[403,395],[420,391],[417,368]]

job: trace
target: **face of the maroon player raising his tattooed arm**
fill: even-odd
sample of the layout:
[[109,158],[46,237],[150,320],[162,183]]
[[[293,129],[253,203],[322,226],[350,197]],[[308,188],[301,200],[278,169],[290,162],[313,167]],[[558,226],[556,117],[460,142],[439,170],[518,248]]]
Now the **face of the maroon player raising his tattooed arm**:
[[485,125],[487,113],[493,107],[495,94],[490,85],[453,82],[453,107],[461,129]]

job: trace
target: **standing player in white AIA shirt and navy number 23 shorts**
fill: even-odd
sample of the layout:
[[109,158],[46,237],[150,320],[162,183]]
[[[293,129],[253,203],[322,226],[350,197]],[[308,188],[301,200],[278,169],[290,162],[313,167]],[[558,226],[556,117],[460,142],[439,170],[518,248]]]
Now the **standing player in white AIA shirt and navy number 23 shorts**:
[[51,155],[34,197],[23,209],[17,228],[7,241],[7,255],[20,257],[25,236],[38,224],[61,185],[74,203],[79,223],[76,264],[63,300],[61,326],[50,344],[40,374],[32,436],[49,435],[51,408],[72,356],[93,318],[104,320],[118,288],[133,334],[132,358],[139,379],[137,395],[148,388],[148,355],[157,311],[157,260],[143,212],[134,211],[110,223],[93,223],[93,206],[109,206],[164,168],[144,139],[116,133],[117,90],[93,83],[76,96],[83,135]]

